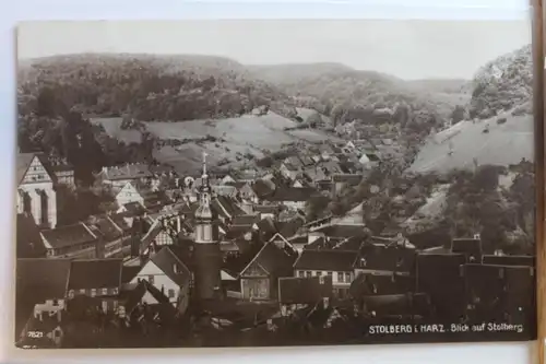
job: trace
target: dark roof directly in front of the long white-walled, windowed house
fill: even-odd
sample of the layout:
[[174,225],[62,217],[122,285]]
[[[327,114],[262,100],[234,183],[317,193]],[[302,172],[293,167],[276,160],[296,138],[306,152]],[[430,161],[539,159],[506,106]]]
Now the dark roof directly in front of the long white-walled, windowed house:
[[332,296],[331,277],[281,278],[278,302],[282,304],[316,304]]

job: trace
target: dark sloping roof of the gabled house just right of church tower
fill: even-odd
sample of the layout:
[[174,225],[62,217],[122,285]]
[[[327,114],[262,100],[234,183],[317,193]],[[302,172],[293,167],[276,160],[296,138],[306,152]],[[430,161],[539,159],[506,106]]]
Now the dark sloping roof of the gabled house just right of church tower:
[[[254,259],[245,268],[258,262],[268,273],[274,277],[292,275],[294,262],[297,259],[297,254],[288,247],[281,248],[274,243],[268,243],[258,251]],[[241,272],[241,274],[245,272]]]

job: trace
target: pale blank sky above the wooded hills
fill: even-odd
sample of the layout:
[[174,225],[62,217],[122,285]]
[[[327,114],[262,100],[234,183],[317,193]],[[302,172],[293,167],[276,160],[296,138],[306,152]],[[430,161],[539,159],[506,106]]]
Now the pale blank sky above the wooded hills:
[[17,27],[17,57],[78,52],[193,54],[245,64],[340,62],[406,80],[471,79],[531,43],[513,21],[62,21]]

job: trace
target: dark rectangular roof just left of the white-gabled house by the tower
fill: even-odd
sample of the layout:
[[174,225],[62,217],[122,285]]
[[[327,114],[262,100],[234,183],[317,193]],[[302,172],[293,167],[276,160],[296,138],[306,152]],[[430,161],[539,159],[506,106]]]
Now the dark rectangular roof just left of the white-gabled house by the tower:
[[69,290],[119,289],[121,268],[122,259],[73,260]]

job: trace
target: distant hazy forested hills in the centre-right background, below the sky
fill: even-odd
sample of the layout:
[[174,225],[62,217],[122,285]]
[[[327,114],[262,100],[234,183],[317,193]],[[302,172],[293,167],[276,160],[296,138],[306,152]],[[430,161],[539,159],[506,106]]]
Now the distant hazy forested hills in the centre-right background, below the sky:
[[425,81],[406,82],[336,63],[261,66],[253,71],[294,96],[298,106],[314,108],[335,122],[358,119],[373,124],[383,120],[387,113],[392,122],[430,128],[449,119],[456,105],[466,103],[465,98],[439,95],[448,91],[455,94],[455,83],[464,93],[466,89],[460,80],[442,80],[446,87],[440,91],[440,82],[431,87]]

